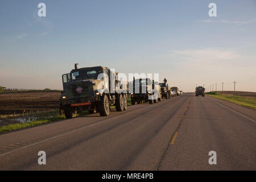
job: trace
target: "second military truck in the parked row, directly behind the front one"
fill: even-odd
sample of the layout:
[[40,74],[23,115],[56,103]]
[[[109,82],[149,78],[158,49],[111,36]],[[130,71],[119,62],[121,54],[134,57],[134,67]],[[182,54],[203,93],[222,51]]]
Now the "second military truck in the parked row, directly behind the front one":
[[[160,92],[160,86],[158,93],[155,93],[155,82],[150,78],[138,78],[133,80],[132,82],[133,92],[131,93],[131,104],[135,105],[149,102],[150,104],[157,103],[158,101],[162,101],[162,93]],[[158,98],[156,99],[148,99],[148,96],[154,96],[158,94]]]

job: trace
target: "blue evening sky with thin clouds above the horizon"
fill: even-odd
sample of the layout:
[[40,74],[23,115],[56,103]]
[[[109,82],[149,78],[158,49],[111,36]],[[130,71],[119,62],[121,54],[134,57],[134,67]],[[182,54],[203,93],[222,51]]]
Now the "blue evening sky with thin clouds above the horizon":
[[61,75],[79,63],[159,73],[187,92],[216,82],[232,90],[234,80],[256,92],[256,1],[5,0],[0,23],[3,86],[61,89]]

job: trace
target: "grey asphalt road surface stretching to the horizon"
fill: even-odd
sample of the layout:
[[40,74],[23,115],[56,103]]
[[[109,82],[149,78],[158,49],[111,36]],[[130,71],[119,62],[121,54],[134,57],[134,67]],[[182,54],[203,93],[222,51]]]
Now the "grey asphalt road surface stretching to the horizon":
[[[256,111],[194,93],[0,135],[1,170],[256,170]],[[46,165],[38,152],[46,152]],[[210,151],[217,164],[210,165]]]

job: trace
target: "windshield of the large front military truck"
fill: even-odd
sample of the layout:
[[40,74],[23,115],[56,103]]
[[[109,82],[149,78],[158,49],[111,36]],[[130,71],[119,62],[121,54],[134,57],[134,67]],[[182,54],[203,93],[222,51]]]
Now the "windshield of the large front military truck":
[[97,68],[81,69],[79,71],[72,72],[72,80],[79,80],[79,79],[86,79],[86,78],[97,79],[98,74],[100,73],[102,73],[101,69],[97,69]]

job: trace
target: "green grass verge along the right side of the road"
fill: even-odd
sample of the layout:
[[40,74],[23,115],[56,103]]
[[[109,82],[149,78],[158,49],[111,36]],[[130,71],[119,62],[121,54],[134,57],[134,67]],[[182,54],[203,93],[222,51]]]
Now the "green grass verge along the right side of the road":
[[219,92],[207,92],[208,96],[220,98],[221,100],[232,102],[234,104],[256,110],[256,97],[227,96]]

